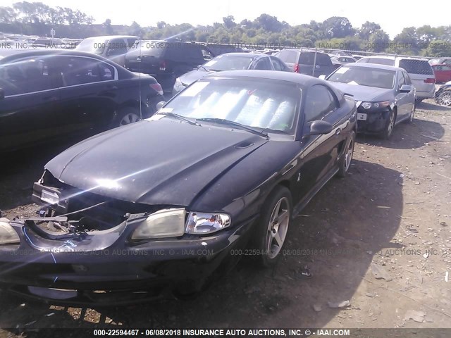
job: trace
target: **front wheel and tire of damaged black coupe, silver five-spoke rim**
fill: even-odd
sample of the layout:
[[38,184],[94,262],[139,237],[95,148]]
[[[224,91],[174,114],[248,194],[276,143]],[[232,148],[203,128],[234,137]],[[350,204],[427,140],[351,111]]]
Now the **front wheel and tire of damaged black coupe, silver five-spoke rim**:
[[[266,199],[263,213],[254,227],[251,240],[252,249],[257,249],[257,264],[261,268],[271,268],[277,263],[279,253],[288,233],[292,216],[290,190],[277,187]],[[277,215],[276,215],[277,213]]]

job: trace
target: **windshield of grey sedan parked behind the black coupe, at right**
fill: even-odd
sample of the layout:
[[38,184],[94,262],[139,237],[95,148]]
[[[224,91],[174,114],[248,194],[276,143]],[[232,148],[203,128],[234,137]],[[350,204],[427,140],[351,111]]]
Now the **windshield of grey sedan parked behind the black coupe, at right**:
[[332,82],[358,84],[366,87],[390,89],[395,82],[395,72],[369,67],[342,66],[328,78]]

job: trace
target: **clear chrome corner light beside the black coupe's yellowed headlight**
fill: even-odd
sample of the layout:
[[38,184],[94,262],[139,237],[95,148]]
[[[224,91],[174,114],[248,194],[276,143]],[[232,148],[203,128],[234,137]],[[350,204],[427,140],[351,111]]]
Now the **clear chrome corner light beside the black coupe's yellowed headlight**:
[[230,226],[230,216],[224,213],[190,213],[186,221],[187,234],[209,234]]

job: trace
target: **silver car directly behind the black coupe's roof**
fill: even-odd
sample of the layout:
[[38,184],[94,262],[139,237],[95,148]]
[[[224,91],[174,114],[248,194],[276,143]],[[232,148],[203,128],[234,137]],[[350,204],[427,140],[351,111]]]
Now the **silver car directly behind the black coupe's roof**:
[[175,80],[173,95],[182,91],[192,82],[202,77],[224,70],[281,70],[291,72],[292,70],[285,65],[280,58],[257,53],[227,53],[216,56],[216,58],[199,65],[199,67],[183,74]]

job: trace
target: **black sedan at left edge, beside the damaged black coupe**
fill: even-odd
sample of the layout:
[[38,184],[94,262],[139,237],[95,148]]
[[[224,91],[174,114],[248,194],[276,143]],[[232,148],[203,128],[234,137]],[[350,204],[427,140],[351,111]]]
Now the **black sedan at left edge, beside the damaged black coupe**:
[[162,94],[153,77],[94,54],[11,51],[0,59],[0,151],[148,118]]

